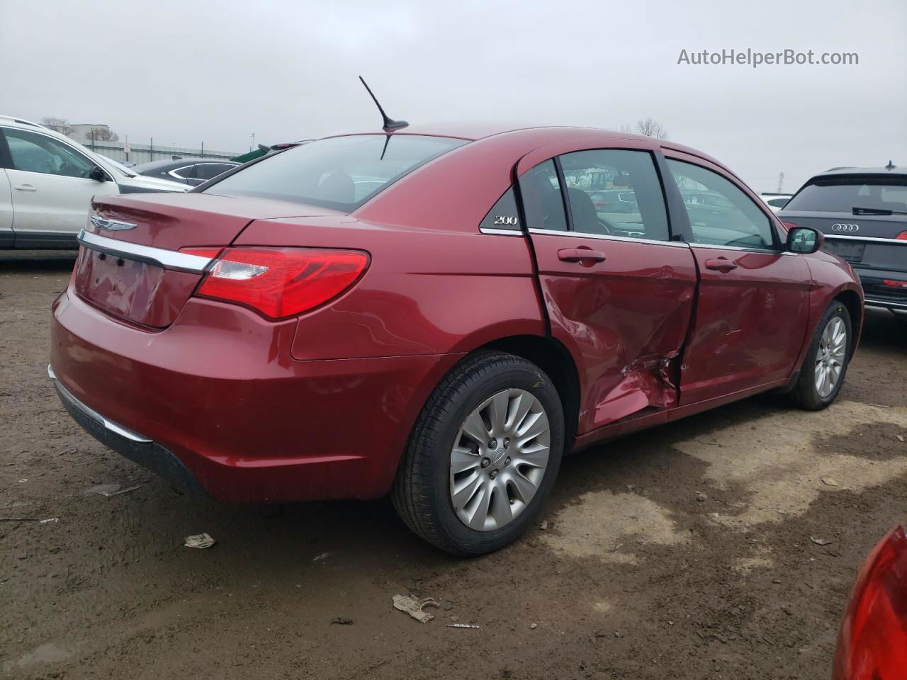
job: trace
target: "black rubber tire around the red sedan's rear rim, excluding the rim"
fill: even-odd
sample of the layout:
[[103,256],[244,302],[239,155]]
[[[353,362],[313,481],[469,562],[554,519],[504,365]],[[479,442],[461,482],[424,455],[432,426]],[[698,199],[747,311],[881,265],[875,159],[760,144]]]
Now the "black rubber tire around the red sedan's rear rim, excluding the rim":
[[[470,529],[457,517],[450,497],[453,440],[473,409],[508,388],[532,393],[544,408],[551,432],[549,460],[538,491],[510,523],[490,531]],[[520,356],[479,352],[454,366],[425,403],[400,462],[391,499],[406,525],[432,545],[458,556],[483,555],[517,539],[538,515],[561,467],[563,445],[563,408],[551,379]]]

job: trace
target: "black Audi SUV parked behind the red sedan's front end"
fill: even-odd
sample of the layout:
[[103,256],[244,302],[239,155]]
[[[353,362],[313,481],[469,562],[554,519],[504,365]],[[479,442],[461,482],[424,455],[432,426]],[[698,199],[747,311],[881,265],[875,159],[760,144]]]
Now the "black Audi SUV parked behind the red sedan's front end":
[[866,305],[907,318],[907,170],[835,168],[808,180],[778,217],[819,229],[851,264]]

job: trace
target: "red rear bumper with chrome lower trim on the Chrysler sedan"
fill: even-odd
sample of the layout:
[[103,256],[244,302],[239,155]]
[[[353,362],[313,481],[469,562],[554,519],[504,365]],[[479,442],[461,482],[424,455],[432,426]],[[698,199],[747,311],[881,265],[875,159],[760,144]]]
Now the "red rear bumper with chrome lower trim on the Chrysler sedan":
[[225,502],[384,495],[428,393],[461,355],[296,361],[296,322],[191,299],[166,330],[54,302],[51,370],[85,430]]

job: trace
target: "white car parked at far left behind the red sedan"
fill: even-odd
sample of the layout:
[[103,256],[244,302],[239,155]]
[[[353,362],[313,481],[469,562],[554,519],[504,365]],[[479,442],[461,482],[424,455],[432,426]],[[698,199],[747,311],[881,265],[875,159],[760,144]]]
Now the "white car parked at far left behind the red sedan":
[[93,196],[190,189],[9,116],[0,116],[0,169],[0,248],[75,248]]

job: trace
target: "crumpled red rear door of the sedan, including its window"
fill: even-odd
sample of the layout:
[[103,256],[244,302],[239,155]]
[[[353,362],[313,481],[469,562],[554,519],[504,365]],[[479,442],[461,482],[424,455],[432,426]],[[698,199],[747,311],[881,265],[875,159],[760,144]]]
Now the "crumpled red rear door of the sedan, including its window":
[[678,403],[697,287],[690,248],[669,238],[653,151],[621,146],[577,141],[517,167],[551,334],[580,374],[579,434]]

